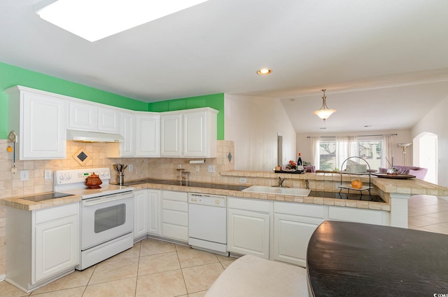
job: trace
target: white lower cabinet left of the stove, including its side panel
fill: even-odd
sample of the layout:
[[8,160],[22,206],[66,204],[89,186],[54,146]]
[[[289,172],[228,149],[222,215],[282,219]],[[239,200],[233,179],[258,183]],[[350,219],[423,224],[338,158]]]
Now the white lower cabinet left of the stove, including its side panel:
[[6,207],[6,281],[24,291],[79,264],[79,202],[27,211]]

